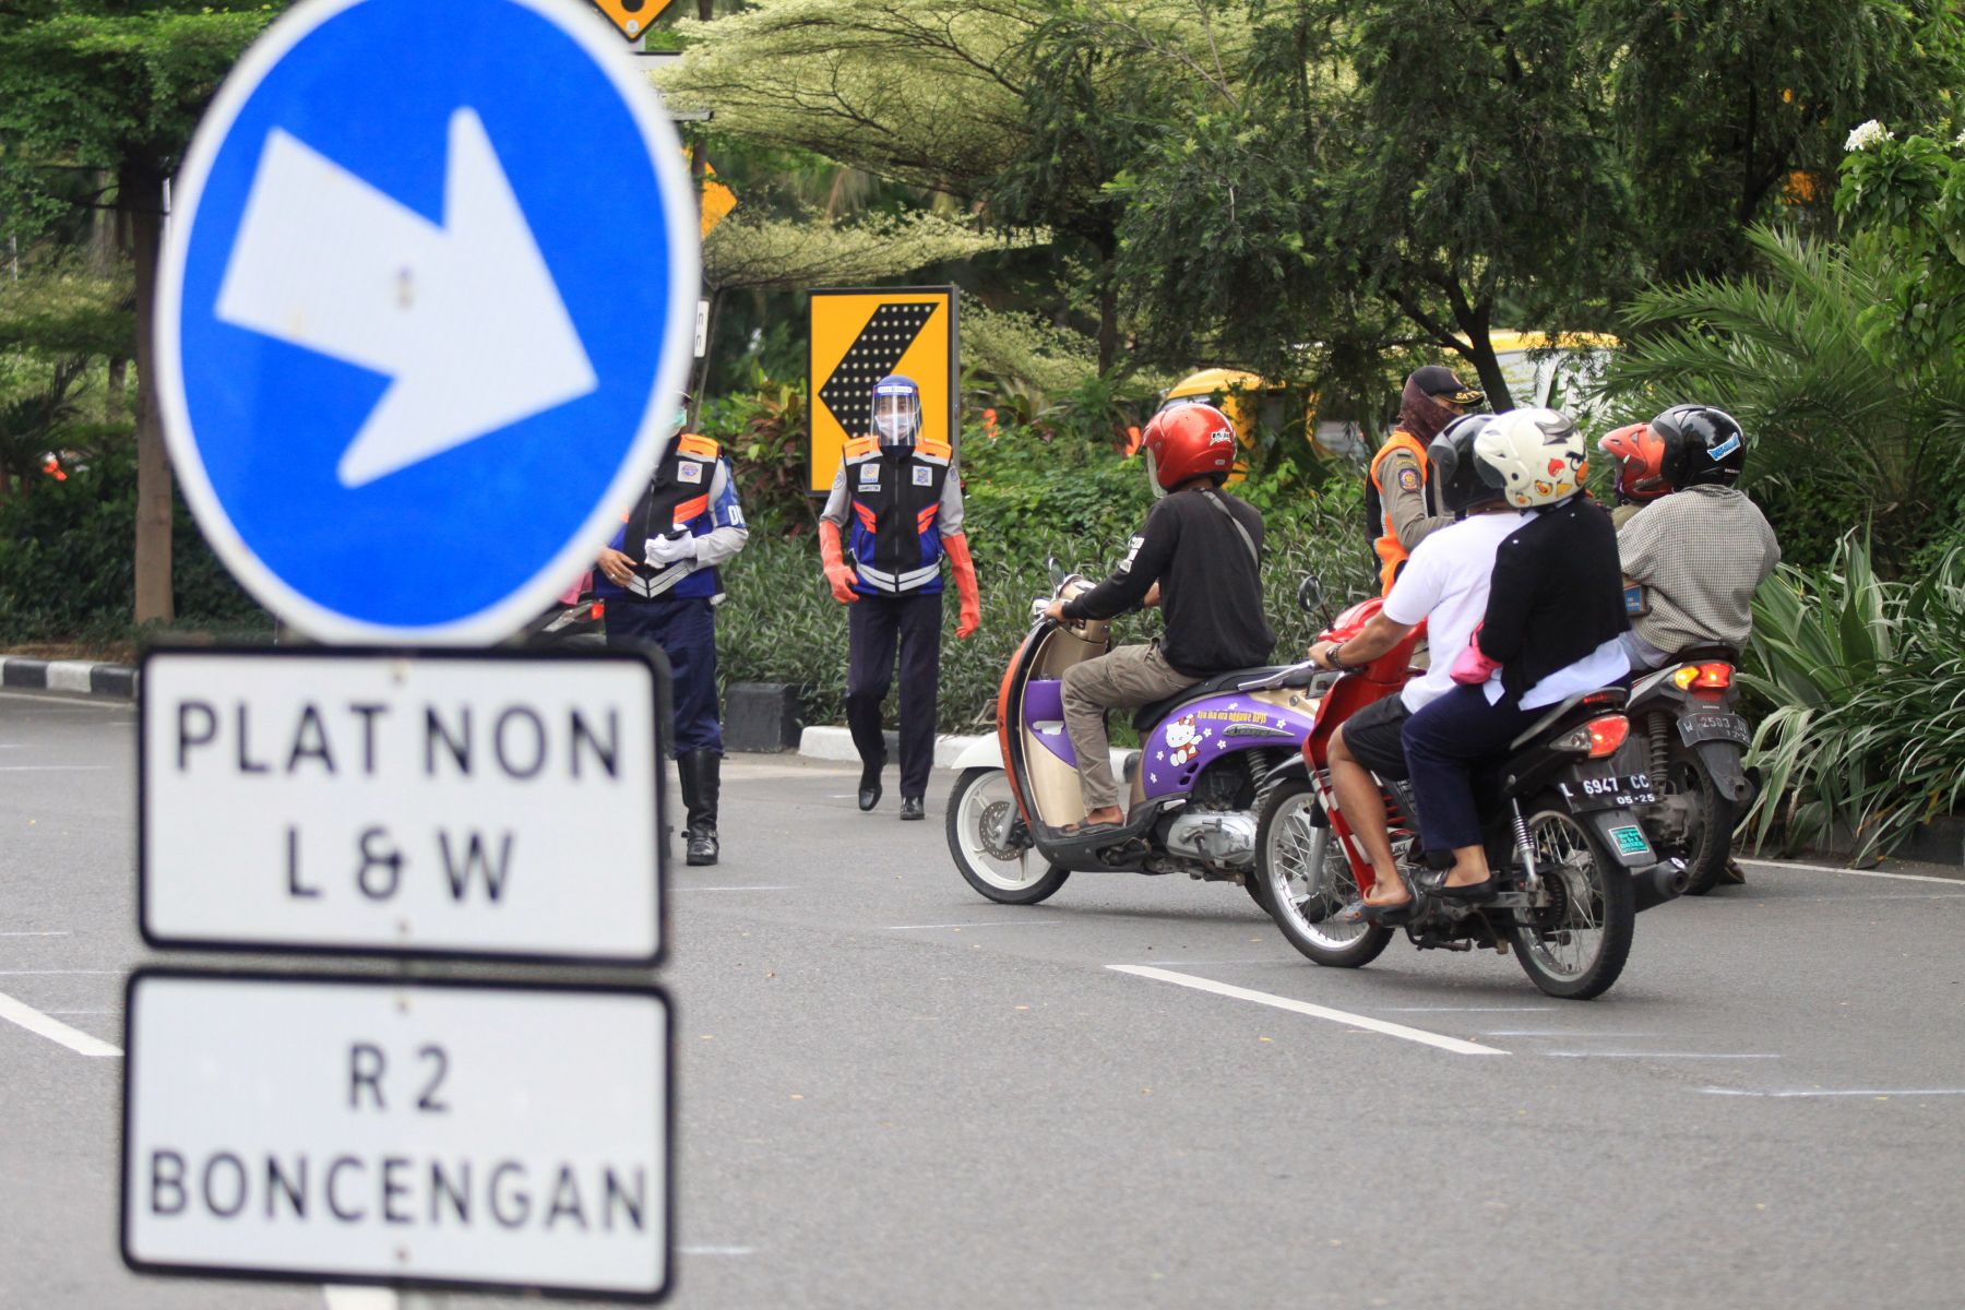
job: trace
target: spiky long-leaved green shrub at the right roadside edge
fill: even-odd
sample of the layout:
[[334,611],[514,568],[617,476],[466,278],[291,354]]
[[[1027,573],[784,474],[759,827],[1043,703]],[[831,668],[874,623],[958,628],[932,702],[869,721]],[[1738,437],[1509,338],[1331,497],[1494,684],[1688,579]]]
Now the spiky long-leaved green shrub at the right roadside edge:
[[1749,831],[1788,850],[1851,835],[1879,858],[1965,797],[1965,542],[1918,581],[1877,575],[1843,540],[1816,570],[1782,568],[1755,597],[1745,682],[1765,791]]

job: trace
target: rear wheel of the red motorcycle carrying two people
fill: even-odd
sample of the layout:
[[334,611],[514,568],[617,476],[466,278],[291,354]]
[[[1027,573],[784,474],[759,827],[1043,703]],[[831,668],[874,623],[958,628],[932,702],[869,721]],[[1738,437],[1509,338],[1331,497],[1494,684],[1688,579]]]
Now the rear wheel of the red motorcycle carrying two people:
[[[1572,925],[1570,931],[1598,931],[1601,937],[1588,962],[1558,970],[1552,962],[1543,962],[1544,953],[1552,955],[1550,943],[1543,941],[1543,931],[1515,925],[1509,929],[1515,958],[1521,960],[1521,972],[1529,974],[1529,982],[1544,996],[1592,1000],[1617,982],[1617,974],[1623,972],[1623,964],[1631,956],[1631,935],[1637,927],[1637,894],[1631,888],[1631,870],[1603,845],[1594,827],[1570,813],[1556,791],[1543,791],[1527,809],[1543,878],[1562,878],[1564,896],[1576,896],[1576,882],[1582,882],[1584,892],[1590,894],[1588,921],[1596,927],[1576,923],[1574,913],[1566,913],[1564,921]],[[1543,841],[1544,833],[1548,841]],[[1568,862],[1560,858],[1564,852],[1572,858],[1588,854],[1590,862],[1582,872],[1566,874]]]

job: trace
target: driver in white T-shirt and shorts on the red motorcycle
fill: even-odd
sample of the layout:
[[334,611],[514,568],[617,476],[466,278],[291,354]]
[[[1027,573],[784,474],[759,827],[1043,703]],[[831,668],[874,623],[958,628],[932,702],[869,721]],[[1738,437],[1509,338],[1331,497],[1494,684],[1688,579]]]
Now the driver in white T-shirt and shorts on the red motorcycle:
[[[1488,609],[1488,577],[1501,542],[1523,524],[1523,515],[1482,477],[1474,458],[1474,438],[1493,414],[1454,418],[1427,448],[1440,509],[1452,520],[1429,534],[1413,550],[1385,607],[1346,642],[1311,646],[1311,660],[1330,670],[1370,664],[1407,632],[1427,625],[1434,650],[1458,652],[1474,636]],[[1399,695],[1374,701],[1346,719],[1330,738],[1330,786],[1352,835],[1372,860],[1372,888],[1342,911],[1346,921],[1397,923],[1413,903],[1413,892],[1399,876],[1385,829],[1385,797],[1379,784],[1403,782],[1405,744],[1401,733],[1415,711],[1454,689],[1452,660],[1436,660],[1425,676],[1405,683]]]

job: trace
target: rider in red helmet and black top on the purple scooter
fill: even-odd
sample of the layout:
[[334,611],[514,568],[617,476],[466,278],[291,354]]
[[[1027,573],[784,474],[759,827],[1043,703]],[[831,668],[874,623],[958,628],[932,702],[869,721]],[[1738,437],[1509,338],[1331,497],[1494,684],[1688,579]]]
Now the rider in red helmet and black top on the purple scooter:
[[1065,733],[1085,793],[1083,829],[1126,819],[1106,709],[1151,705],[1212,674],[1254,668],[1275,646],[1262,611],[1262,515],[1218,489],[1234,467],[1234,424],[1212,405],[1183,405],[1148,422],[1140,450],[1161,501],[1112,577],[1045,609],[1055,623],[1114,619],[1138,605],[1159,605],[1165,615],[1157,642],[1118,646],[1065,670]]

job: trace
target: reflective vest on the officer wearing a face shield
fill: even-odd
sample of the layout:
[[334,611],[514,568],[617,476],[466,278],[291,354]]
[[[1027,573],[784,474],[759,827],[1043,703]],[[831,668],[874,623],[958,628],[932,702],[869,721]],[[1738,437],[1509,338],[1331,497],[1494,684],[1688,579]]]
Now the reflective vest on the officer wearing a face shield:
[[847,495],[853,501],[853,589],[861,595],[941,591],[941,489],[949,481],[947,442],[918,440],[906,454],[878,438],[847,442]]

